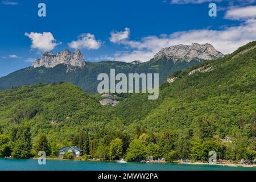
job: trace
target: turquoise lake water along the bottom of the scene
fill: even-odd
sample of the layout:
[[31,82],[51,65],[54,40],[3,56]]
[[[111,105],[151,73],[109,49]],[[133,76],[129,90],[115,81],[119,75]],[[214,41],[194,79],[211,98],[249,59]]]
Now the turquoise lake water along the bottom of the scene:
[[34,159],[0,159],[0,171],[256,171],[256,167],[229,167],[190,164],[148,164],[46,160],[39,165]]

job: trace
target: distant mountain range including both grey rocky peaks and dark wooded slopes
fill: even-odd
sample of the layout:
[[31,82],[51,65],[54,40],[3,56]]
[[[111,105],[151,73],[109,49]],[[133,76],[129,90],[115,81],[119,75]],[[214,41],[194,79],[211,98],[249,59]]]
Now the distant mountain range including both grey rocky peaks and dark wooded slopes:
[[223,57],[210,44],[178,45],[164,48],[150,61],[141,63],[133,61],[124,63],[119,61],[101,61],[100,63],[85,62],[79,49],[75,53],[68,51],[54,55],[46,52],[41,59],[36,59],[31,67],[20,69],[10,75],[0,78],[0,90],[22,85],[52,84],[53,82],[71,82],[83,91],[96,93],[97,76],[100,73],[159,73],[159,82],[166,81],[170,73],[182,70],[202,61]]

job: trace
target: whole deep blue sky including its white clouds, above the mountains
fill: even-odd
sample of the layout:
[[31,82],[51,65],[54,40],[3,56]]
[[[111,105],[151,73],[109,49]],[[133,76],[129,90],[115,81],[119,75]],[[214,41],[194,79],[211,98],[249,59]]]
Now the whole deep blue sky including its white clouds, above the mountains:
[[[40,2],[46,17],[38,16]],[[210,2],[217,17],[208,15]],[[0,77],[66,48],[80,48],[86,61],[147,61],[193,42],[230,53],[256,40],[255,7],[254,0],[0,0]]]

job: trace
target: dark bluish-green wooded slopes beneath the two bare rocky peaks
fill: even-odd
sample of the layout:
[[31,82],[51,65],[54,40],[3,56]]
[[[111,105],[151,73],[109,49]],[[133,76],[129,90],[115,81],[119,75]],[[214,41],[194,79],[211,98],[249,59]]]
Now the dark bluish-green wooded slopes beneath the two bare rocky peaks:
[[142,64],[131,64],[118,61],[102,61],[100,63],[86,62],[82,68],[71,65],[59,64],[54,68],[28,67],[13,72],[0,78],[0,90],[17,86],[33,84],[52,84],[53,82],[70,82],[79,86],[84,92],[97,93],[97,77],[100,73],[110,75],[110,69],[115,73],[159,73],[159,81],[162,83],[166,77],[177,70],[191,67],[204,60],[177,61],[168,59],[152,59]]

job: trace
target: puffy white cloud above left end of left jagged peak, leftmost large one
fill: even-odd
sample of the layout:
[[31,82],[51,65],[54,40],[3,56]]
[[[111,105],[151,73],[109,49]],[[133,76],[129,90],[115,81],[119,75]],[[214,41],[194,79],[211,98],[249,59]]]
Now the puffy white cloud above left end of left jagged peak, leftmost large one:
[[43,34],[31,32],[28,34],[25,33],[28,38],[32,40],[31,48],[39,49],[39,51],[52,51],[57,45],[61,43],[56,43],[55,38],[53,37],[51,32],[43,32]]

